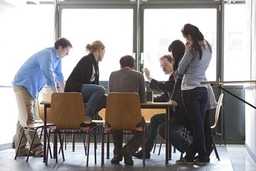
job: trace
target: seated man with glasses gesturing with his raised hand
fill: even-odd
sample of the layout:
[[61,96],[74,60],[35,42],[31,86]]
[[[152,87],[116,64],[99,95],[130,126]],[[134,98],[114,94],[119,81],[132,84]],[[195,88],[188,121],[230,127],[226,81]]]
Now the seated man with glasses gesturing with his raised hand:
[[[153,102],[168,102],[170,100],[170,96],[172,95],[173,86],[174,86],[174,77],[173,77],[173,59],[170,55],[163,55],[160,58],[160,65],[163,69],[163,72],[167,75],[170,75],[170,78],[167,82],[158,82],[155,79],[150,77],[150,71],[148,69],[143,69],[148,81],[150,82],[150,88],[162,92],[160,96],[154,97]],[[157,139],[157,129],[160,127],[160,135],[164,137],[164,122],[165,122],[165,113],[154,115],[150,119],[150,133],[146,142],[146,159],[150,159],[150,151],[153,149],[154,142]],[[180,130],[183,129],[184,126],[180,123],[177,123],[175,120],[175,116],[173,113],[170,118],[170,143],[175,146],[181,153],[183,153],[187,146],[189,146],[190,142],[187,139],[184,139],[183,136],[180,135]],[[134,155],[137,158],[142,159],[143,150],[136,153]]]

